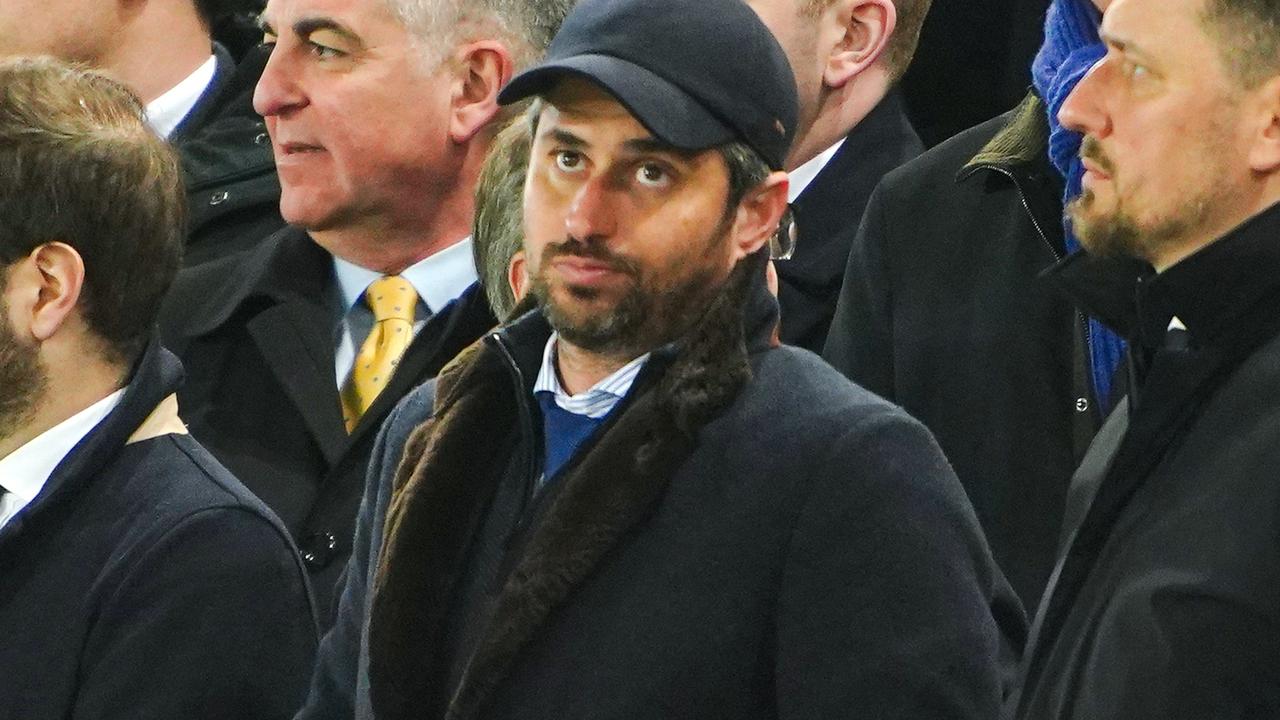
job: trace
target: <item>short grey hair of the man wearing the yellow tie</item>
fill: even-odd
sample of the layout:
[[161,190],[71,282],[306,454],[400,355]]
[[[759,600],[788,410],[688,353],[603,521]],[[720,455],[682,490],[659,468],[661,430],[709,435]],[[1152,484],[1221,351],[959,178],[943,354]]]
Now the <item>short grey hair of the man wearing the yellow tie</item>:
[[503,40],[517,68],[547,51],[576,0],[387,0],[392,13],[439,61],[461,42]]

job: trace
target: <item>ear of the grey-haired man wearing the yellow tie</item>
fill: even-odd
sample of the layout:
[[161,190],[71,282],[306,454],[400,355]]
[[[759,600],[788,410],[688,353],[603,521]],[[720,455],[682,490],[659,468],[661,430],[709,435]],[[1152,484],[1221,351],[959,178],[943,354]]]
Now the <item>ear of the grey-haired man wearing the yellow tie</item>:
[[516,72],[511,50],[494,40],[468,42],[458,49],[454,63],[449,138],[468,142],[498,114],[498,91]]

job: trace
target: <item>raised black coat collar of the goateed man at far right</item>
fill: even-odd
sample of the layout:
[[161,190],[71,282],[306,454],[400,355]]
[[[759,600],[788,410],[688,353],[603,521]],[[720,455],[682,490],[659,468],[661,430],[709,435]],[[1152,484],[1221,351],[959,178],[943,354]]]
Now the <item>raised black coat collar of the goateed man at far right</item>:
[[1140,347],[1160,347],[1174,316],[1187,327],[1192,343],[1203,347],[1280,292],[1277,238],[1280,204],[1161,274],[1146,263],[1076,252],[1044,277]]

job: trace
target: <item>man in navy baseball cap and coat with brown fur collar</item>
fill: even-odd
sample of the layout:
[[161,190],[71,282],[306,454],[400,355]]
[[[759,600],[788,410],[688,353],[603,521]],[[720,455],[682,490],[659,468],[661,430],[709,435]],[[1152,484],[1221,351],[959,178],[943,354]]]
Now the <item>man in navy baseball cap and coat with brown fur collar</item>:
[[300,717],[997,716],[1021,611],[932,437],[771,342],[768,29],[585,0],[526,99],[539,309],[383,428]]

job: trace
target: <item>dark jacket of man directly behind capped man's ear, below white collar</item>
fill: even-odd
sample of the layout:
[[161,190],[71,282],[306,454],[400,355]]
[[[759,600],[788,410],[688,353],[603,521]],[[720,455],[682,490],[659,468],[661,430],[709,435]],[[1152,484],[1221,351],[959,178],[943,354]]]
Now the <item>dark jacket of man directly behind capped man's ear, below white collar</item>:
[[822,352],[867,201],[886,173],[920,152],[902,101],[890,92],[791,204],[796,250],[777,263],[782,342]]

